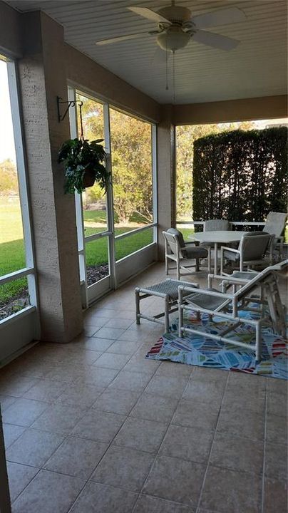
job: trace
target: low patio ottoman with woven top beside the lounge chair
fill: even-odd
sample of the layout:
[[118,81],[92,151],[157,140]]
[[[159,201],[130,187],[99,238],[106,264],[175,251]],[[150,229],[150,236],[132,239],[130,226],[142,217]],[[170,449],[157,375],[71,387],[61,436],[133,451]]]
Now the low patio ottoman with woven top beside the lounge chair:
[[[160,281],[160,283],[148,287],[135,288],[135,301],[136,301],[136,324],[140,324],[140,318],[145,318],[148,321],[158,322],[164,324],[165,333],[169,331],[169,314],[178,310],[178,286],[193,286],[199,289],[199,285],[191,281],[180,281],[167,279]],[[185,295],[189,295],[187,292]],[[164,299],[164,311],[155,316],[147,316],[140,313],[140,301],[149,296],[157,296]],[[164,317],[164,321],[160,321],[160,317]]]

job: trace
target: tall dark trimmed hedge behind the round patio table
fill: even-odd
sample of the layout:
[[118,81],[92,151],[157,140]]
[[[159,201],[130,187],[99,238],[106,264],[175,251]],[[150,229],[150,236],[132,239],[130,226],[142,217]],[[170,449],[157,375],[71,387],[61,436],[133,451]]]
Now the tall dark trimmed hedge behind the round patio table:
[[287,127],[233,130],[194,142],[193,219],[263,221],[287,209]]

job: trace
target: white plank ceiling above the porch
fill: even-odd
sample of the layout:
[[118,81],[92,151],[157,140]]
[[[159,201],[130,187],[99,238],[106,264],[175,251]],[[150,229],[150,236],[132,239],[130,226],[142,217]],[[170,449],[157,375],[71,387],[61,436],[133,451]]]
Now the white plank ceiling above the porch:
[[[170,89],[165,90],[165,63],[153,64],[158,48],[155,36],[143,36],[107,46],[95,42],[123,34],[150,31],[153,21],[129,11],[127,6],[150,9],[169,0],[93,0],[7,2],[19,11],[42,9],[64,26],[66,41],[160,103],[173,103],[172,58]],[[175,53],[175,103],[232,100],[287,93],[286,0],[178,0],[192,14],[237,6],[246,21],[209,28],[211,32],[241,41],[234,50],[220,51],[190,41]]]

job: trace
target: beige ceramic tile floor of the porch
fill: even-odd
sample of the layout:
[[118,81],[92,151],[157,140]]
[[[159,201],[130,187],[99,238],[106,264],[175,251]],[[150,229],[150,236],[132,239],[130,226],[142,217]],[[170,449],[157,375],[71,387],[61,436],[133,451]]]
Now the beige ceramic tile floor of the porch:
[[163,277],[151,267],[89,309],[85,335],[0,372],[13,513],[287,511],[286,383],[145,360],[162,326],[136,326],[134,287]]

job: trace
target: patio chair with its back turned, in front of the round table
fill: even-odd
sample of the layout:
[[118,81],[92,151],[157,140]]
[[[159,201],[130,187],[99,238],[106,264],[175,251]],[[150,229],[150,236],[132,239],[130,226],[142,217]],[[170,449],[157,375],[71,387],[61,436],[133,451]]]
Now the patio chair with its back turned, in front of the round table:
[[269,247],[271,235],[264,232],[247,232],[240,240],[238,249],[222,246],[220,249],[220,274],[224,271],[225,261],[232,261],[244,271],[244,267],[259,266],[264,263],[264,254]]

